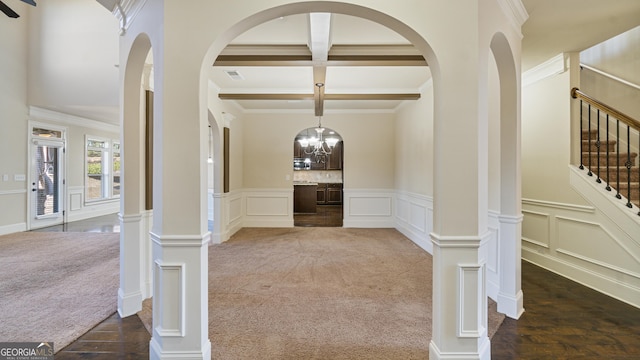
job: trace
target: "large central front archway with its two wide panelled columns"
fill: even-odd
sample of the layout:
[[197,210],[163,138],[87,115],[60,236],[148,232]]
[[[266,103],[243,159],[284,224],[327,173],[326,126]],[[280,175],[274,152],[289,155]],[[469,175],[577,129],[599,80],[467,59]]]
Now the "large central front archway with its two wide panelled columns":
[[[266,8],[272,3],[277,6]],[[279,16],[309,11],[343,13],[384,24],[410,40],[429,62],[435,94],[436,179],[431,238],[435,249],[434,274],[437,274],[434,276],[436,296],[431,351],[434,358],[460,354],[463,350],[487,354],[488,341],[483,328],[486,313],[481,300],[483,264],[478,262],[477,256],[478,233],[484,231],[484,224],[479,219],[485,215],[486,209],[479,203],[480,180],[478,174],[473,173],[482,164],[470,157],[465,161],[465,167],[460,167],[449,162],[451,159],[444,155],[478,150],[480,133],[475,122],[479,116],[479,89],[468,86],[469,79],[474,79],[471,83],[482,81],[478,74],[478,52],[482,50],[473,46],[478,42],[477,29],[474,28],[477,27],[478,9],[449,7],[450,3],[441,0],[415,4],[418,9],[402,9],[378,2],[373,5],[376,9],[325,1],[280,4],[279,1],[267,2],[266,5],[252,3],[250,8],[229,6],[222,11],[217,3],[198,4],[196,9],[169,2],[163,6],[143,8],[142,15],[139,15],[139,18],[144,18],[143,13],[148,11],[152,21],[163,20],[163,26],[153,27],[162,28],[158,39],[163,43],[158,54],[181,54],[180,57],[158,59],[161,66],[160,75],[156,77],[160,80],[156,83],[158,102],[162,104],[157,107],[161,110],[158,116],[162,125],[159,132],[162,143],[158,151],[164,161],[161,169],[154,170],[159,180],[158,187],[154,187],[154,197],[162,203],[155,208],[159,216],[154,220],[156,233],[152,235],[156,264],[154,279],[158,280],[154,289],[153,356],[161,358],[163,354],[189,353],[207,357],[210,351],[203,326],[207,323],[204,244],[208,235],[202,230],[206,206],[201,202],[206,193],[206,186],[203,186],[206,166],[203,164],[206,161],[209,111],[208,67],[229,39],[246,29]],[[429,11],[432,10],[429,6],[440,6],[443,11],[436,14]],[[194,26],[179,26],[179,21],[173,21],[191,19],[190,15],[195,14],[198,16],[193,18]],[[245,14],[249,16],[245,17]],[[420,16],[416,18],[416,14]],[[496,14],[502,13],[497,10]],[[413,28],[407,24],[412,24]],[[157,25],[155,21],[153,25]],[[196,28],[201,37],[185,44],[184,39],[189,38],[190,32]],[[446,36],[439,37],[445,33]],[[438,58],[424,40],[423,35],[426,37],[427,34],[436,38],[434,44],[441,50],[437,53]],[[195,66],[200,67],[199,71],[194,69]],[[461,106],[454,106],[459,99],[464,100]],[[194,138],[198,138],[199,143],[194,143]],[[454,144],[450,141],[454,138],[460,141]],[[202,161],[184,160],[196,156]],[[452,178],[457,179],[456,184]],[[464,221],[459,221],[459,218]],[[450,285],[456,279],[461,279],[458,288]],[[185,297],[185,294],[189,296]],[[453,299],[460,303],[454,303]],[[448,325],[451,318],[459,320],[458,328]]]

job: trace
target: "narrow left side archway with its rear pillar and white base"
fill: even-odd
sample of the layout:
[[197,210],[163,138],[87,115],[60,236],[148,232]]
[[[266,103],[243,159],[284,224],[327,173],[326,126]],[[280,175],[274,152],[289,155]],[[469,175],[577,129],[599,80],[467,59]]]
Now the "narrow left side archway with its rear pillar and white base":
[[[150,38],[142,33],[131,44],[128,53],[121,54],[124,64],[122,96],[122,192],[120,197],[120,288],[118,313],[125,317],[142,308],[142,300],[151,296],[151,179],[147,155],[150,115],[148,96],[143,96],[145,61],[152,50]],[[146,76],[148,77],[148,72]],[[146,89],[148,90],[148,89]],[[143,102],[142,99],[145,99]],[[141,109],[147,111],[141,112]]]

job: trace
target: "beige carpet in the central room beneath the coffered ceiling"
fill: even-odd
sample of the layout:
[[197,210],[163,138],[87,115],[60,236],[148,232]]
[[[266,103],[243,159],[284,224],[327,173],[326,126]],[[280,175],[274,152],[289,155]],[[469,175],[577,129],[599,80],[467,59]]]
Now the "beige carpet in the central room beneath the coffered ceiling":
[[392,229],[242,229],[209,249],[212,358],[427,359],[431,267]]

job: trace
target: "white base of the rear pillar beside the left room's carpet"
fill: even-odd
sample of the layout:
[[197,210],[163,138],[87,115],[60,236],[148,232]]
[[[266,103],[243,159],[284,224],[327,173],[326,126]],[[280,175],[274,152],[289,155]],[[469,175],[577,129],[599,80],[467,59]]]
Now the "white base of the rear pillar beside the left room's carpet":
[[141,262],[144,227],[140,214],[119,214],[120,218],[120,288],[118,314],[133,315],[142,309],[143,285]]

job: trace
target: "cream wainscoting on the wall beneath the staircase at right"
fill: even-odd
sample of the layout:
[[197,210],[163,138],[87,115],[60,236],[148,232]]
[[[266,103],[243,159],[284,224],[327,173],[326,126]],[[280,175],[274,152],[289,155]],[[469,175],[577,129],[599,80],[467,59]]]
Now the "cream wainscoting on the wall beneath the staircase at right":
[[522,204],[524,260],[640,307],[640,224],[628,227],[628,218],[617,222],[599,207]]

